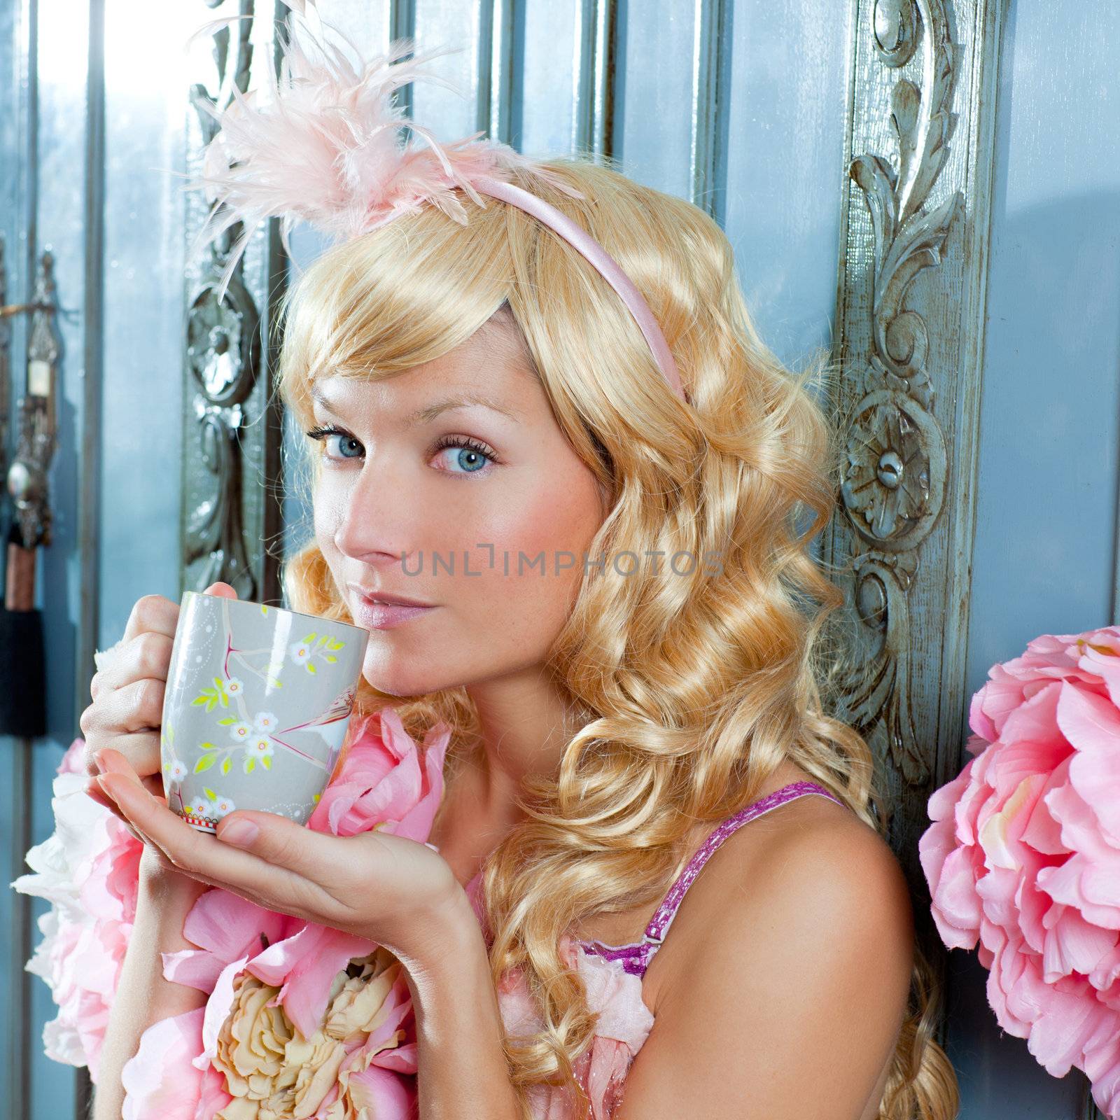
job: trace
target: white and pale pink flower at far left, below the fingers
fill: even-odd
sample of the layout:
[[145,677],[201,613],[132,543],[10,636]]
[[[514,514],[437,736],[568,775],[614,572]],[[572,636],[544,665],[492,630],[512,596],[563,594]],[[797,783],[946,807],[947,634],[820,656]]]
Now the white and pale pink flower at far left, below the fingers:
[[97,1083],[109,1007],[136,918],[143,846],[108,809],[85,793],[85,741],[75,739],[53,783],[55,831],[25,857],[37,874],[16,890],[46,898],[43,941],[27,963],[52,989],[58,1014],[46,1024],[48,1057],[86,1065]]

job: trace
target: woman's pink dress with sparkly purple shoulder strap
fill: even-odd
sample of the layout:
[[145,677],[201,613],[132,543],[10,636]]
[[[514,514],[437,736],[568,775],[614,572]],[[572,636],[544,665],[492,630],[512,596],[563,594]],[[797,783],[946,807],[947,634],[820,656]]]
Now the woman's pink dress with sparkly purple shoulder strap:
[[[591,1101],[594,1120],[610,1120],[622,1102],[626,1073],[653,1027],[653,1012],[642,997],[642,977],[665,940],[684,893],[700,869],[736,829],[787,801],[813,793],[843,804],[815,782],[791,782],[717,825],[669,888],[641,941],[608,945],[567,934],[561,937],[560,954],[584,979],[590,1010],[599,1016],[591,1045],[576,1062],[577,1076]],[[466,890],[479,922],[483,922],[480,884],[482,872],[467,884]],[[511,1035],[532,1034],[540,1026],[520,974],[511,977],[498,990],[498,1006]],[[533,1100],[533,1113],[536,1120],[568,1120],[571,1109],[559,1089],[539,1088]]]

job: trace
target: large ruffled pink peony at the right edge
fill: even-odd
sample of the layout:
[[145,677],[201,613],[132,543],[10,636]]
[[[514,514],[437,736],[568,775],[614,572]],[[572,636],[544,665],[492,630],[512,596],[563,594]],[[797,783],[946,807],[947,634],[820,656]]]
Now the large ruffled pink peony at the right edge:
[[918,843],[937,931],[999,1025],[1120,1118],[1120,627],[1046,634],[972,698],[974,757]]

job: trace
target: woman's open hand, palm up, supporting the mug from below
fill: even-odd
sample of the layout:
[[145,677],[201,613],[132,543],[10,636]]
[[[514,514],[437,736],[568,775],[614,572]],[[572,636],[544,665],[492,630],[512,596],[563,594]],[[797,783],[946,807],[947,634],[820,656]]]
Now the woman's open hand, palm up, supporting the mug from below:
[[[407,967],[438,956],[469,908],[450,866],[427,844],[376,829],[336,837],[256,810],[224,816],[215,838],[153,797],[122,755],[106,747],[103,758],[112,773],[99,777],[102,788],[168,870],[374,941]],[[242,825],[256,836],[235,844]]]

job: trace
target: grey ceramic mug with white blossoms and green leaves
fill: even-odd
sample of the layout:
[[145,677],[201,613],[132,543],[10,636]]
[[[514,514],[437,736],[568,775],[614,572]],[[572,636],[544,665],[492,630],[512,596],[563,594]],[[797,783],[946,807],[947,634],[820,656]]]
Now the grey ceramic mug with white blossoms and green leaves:
[[186,591],[164,693],[167,805],[202,832],[235,809],[306,824],[349,727],[370,632]]

